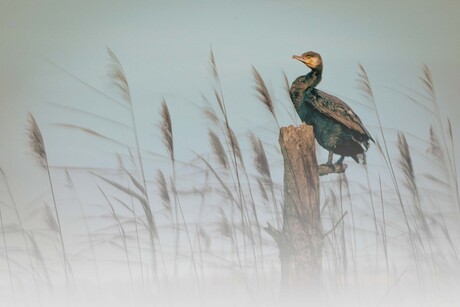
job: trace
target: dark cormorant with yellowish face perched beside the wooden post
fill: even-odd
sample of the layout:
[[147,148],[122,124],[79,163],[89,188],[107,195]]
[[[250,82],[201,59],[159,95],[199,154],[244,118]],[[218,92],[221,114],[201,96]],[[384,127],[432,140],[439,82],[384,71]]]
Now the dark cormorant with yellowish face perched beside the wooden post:
[[323,72],[321,56],[309,51],[292,58],[311,69],[292,83],[289,94],[300,119],[313,126],[316,140],[329,151],[327,164],[332,165],[333,154],[341,156],[336,164],[342,164],[346,156],[359,163],[359,154],[365,164],[369,140],[374,140],[358,115],[339,98],[315,88]]

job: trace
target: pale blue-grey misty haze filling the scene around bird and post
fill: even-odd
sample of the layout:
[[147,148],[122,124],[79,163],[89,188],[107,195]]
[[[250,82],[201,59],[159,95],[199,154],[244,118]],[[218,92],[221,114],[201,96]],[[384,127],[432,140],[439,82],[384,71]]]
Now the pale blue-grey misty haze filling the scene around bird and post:
[[[2,305],[455,306],[459,10],[408,0],[3,0]],[[367,167],[346,159],[346,175],[321,177],[320,289],[295,298],[280,292],[265,227],[282,224],[279,127],[300,123],[284,74],[307,73],[291,57],[308,50],[324,61],[318,87],[377,142]],[[257,166],[258,139],[270,178]]]

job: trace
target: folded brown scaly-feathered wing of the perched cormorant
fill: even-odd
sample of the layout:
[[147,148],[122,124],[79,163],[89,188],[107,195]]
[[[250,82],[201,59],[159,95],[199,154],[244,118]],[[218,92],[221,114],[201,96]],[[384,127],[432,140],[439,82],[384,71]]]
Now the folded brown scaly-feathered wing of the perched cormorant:
[[312,89],[310,95],[305,95],[305,101],[322,114],[335,119],[351,130],[367,135],[369,139],[374,141],[358,115],[339,98],[318,89]]

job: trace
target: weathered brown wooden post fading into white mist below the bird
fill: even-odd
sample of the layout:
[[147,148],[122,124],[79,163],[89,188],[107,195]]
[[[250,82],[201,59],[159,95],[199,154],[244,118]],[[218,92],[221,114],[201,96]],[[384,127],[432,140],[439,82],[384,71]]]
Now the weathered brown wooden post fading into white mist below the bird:
[[283,227],[267,231],[278,244],[282,293],[316,289],[321,284],[323,228],[319,208],[319,172],[313,128],[281,128],[284,159]]

